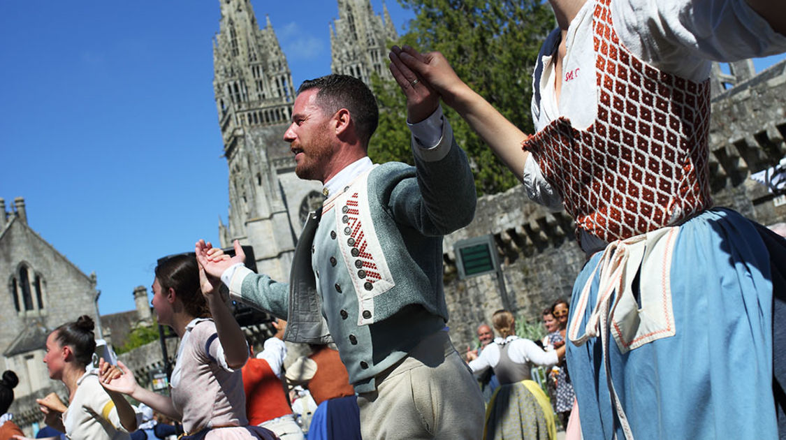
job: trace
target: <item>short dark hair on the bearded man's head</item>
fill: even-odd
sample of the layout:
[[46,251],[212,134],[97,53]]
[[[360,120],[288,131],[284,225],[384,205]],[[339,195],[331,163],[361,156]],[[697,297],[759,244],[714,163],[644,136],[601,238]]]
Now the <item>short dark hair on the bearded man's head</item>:
[[368,147],[380,119],[380,109],[369,87],[354,76],[331,74],[303,81],[297,93],[310,89],[319,90],[316,103],[323,112],[332,115],[341,108],[349,110],[358,138]]

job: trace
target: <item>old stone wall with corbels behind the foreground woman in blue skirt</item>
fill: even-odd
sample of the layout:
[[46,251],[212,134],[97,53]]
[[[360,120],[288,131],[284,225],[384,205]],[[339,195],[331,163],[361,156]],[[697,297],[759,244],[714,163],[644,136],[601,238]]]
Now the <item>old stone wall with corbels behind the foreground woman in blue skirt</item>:
[[[764,225],[786,220],[786,204],[752,181],[751,173],[786,156],[786,61],[714,97],[710,130],[710,174],[716,206],[731,207]],[[445,293],[450,331],[459,350],[475,343],[475,330],[490,324],[503,301],[494,273],[459,280],[454,245],[458,240],[494,236],[511,308],[538,320],[558,298],[569,299],[585,256],[575,225],[563,212],[532,203],[523,187],[478,200],[472,224],[445,237]]]

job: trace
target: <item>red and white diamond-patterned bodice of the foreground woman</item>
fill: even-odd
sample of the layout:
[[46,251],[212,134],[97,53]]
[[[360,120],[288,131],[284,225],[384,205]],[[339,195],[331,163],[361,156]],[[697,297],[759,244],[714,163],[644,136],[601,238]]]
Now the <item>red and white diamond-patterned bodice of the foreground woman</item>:
[[560,117],[523,143],[577,229],[607,242],[673,226],[712,205],[709,79],[695,83],[635,57],[617,38],[610,1],[598,0],[593,13],[595,121],[576,130]]

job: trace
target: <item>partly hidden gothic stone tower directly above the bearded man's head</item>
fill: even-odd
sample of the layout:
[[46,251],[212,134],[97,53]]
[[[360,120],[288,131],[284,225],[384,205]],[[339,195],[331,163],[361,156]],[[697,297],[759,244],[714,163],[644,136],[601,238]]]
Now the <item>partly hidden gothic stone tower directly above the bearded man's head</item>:
[[[399,38],[387,6],[375,15],[369,0],[338,0],[339,18],[330,27],[330,70],[371,83],[372,72],[392,79],[387,70],[387,41]],[[335,29],[334,29],[335,27]]]

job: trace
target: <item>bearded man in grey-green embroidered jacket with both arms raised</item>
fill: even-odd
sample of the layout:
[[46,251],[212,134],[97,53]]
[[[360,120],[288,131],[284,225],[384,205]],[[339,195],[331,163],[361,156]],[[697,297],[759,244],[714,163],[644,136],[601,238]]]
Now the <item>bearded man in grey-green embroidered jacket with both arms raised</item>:
[[298,177],[321,181],[326,199],[303,228],[290,282],[244,268],[237,241],[229,261],[211,261],[201,240],[196,254],[233,299],[286,318],[285,339],[336,343],[363,438],[480,438],[483,398],[450,342],[442,281],[443,235],[472,221],[475,185],[439,97],[391,71],[415,167],[367,156],[378,109],[362,81],[306,81],[284,139]]

